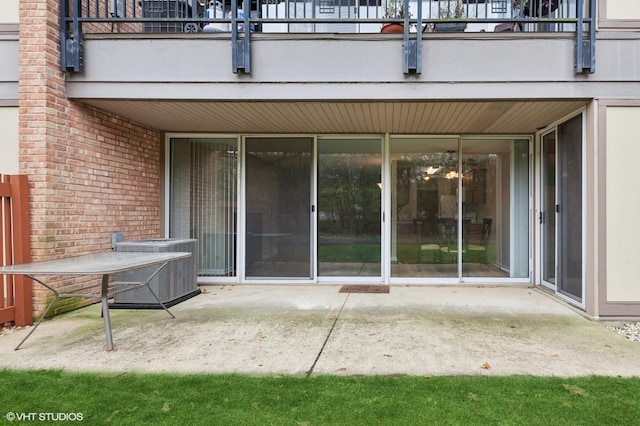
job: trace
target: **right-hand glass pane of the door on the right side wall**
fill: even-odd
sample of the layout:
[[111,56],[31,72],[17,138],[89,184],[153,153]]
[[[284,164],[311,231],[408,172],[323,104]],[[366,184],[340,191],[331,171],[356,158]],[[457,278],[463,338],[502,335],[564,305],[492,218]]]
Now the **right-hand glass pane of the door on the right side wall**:
[[582,116],[558,126],[558,291],[582,300]]

